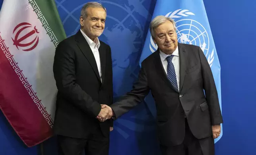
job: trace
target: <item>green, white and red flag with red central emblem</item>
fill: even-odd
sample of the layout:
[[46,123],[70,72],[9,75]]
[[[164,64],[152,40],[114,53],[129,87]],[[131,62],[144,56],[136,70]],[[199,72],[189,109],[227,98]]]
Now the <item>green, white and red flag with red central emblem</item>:
[[21,140],[52,136],[55,48],[66,38],[54,0],[4,0],[0,10],[0,109]]

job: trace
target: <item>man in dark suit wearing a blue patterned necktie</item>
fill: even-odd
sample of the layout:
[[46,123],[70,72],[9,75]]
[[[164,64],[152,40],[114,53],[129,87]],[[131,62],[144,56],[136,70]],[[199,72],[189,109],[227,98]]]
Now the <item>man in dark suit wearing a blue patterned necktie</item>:
[[[138,105],[151,90],[163,155],[214,155],[223,123],[211,68],[200,47],[178,43],[173,19],[157,16],[150,32],[157,51],[142,62],[132,91],[99,115],[116,118]],[[205,91],[205,94],[204,94]]]

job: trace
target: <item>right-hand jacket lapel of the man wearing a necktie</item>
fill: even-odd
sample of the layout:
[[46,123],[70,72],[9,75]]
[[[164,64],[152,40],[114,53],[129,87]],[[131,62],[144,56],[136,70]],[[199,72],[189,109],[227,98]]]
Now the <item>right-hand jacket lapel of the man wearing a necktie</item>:
[[180,58],[180,92],[183,88],[183,82],[186,72],[186,51],[182,44],[178,43],[178,53]]

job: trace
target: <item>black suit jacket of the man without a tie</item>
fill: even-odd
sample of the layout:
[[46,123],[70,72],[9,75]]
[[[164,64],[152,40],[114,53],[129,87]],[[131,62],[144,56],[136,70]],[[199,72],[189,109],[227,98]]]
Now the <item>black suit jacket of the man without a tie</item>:
[[96,127],[109,135],[111,120],[103,123],[95,117],[100,104],[112,104],[112,60],[109,45],[100,41],[102,83],[89,44],[80,30],[59,43],[53,72],[58,88],[54,133],[74,138],[87,138]]

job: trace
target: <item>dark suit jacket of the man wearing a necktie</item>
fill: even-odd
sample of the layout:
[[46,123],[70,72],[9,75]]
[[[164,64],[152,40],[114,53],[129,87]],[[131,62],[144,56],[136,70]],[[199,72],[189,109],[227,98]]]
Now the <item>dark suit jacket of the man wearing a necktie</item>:
[[[111,105],[116,117],[144,100],[151,90],[157,108],[159,141],[165,146],[181,144],[186,115],[190,130],[198,139],[212,135],[211,125],[222,123],[221,110],[211,68],[200,47],[178,43],[180,91],[165,73],[159,50],[142,62],[132,91]],[[205,91],[205,95],[204,95]]]

